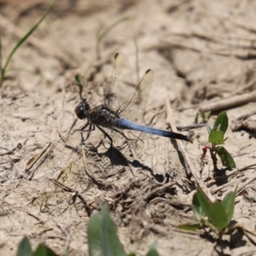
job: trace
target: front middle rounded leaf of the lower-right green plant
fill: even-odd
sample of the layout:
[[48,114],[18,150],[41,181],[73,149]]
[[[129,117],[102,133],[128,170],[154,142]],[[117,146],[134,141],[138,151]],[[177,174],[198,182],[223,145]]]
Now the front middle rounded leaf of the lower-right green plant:
[[223,230],[228,226],[228,224],[230,224],[224,205],[220,201],[215,201],[212,203],[209,221],[218,230]]

